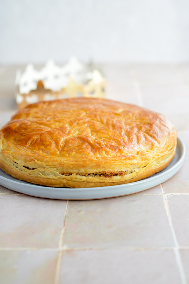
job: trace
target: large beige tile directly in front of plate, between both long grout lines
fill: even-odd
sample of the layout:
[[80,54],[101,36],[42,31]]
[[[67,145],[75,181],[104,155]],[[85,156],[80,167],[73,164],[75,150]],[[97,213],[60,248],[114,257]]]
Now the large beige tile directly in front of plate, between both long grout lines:
[[162,196],[70,201],[64,245],[70,248],[160,247],[174,242]]

